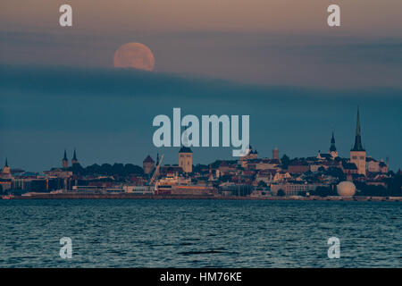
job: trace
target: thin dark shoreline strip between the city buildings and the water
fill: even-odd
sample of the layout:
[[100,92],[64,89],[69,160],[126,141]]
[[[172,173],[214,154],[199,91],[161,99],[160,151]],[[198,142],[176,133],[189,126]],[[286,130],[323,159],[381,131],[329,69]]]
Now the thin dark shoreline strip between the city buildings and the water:
[[303,201],[384,201],[402,202],[402,197],[237,197],[217,195],[141,195],[141,194],[95,194],[95,193],[58,193],[58,194],[30,194],[13,196],[6,199],[216,199],[216,200],[303,200]]

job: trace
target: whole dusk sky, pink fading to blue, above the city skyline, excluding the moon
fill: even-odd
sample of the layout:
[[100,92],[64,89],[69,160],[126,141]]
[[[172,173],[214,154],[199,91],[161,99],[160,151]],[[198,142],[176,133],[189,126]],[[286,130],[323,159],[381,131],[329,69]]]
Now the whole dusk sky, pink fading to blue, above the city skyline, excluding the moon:
[[[59,26],[71,4],[73,27]],[[341,26],[326,9],[339,4]],[[4,0],[0,4],[0,160],[42,171],[77,147],[82,164],[141,164],[152,119],[249,114],[262,156],[326,151],[354,141],[361,108],[368,155],[401,167],[402,2],[263,0]],[[35,9],[33,9],[33,7]],[[155,55],[155,71],[119,71],[128,42]],[[172,116],[172,115],[170,115]],[[230,158],[197,148],[194,163]]]

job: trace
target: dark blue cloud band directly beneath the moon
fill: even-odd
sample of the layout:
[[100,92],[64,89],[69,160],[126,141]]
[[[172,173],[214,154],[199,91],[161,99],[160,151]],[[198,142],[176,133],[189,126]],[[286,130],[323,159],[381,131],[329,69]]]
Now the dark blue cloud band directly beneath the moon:
[[[68,97],[399,97],[399,88],[304,88],[257,85],[134,69],[0,65],[3,92]],[[383,92],[385,90],[385,93]]]

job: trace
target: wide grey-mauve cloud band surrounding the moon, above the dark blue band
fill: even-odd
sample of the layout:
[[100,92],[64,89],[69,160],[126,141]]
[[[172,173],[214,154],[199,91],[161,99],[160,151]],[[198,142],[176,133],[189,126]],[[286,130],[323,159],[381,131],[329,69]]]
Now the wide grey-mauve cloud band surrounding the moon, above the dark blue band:
[[338,34],[182,31],[1,32],[0,63],[108,68],[122,44],[146,44],[155,71],[306,88],[402,88],[402,39]]

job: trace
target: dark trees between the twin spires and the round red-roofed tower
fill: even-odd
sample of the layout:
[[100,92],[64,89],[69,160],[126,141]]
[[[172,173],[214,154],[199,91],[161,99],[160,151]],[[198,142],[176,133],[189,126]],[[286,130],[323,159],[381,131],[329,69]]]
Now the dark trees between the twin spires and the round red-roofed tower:
[[80,164],[73,164],[68,168],[73,174],[88,176],[88,175],[106,175],[127,177],[130,175],[142,175],[144,170],[135,164],[91,164],[87,167],[82,167]]

